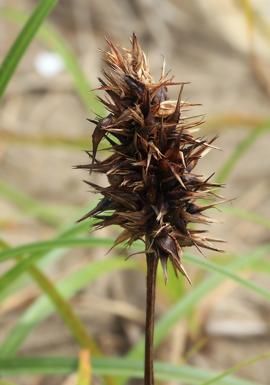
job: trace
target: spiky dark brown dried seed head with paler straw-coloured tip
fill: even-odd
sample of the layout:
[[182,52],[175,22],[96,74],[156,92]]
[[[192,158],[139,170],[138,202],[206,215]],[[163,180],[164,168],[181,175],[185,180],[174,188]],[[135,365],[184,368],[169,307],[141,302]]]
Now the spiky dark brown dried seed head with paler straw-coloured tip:
[[[216,148],[212,146],[216,137],[207,143],[191,135],[198,131],[194,127],[203,122],[190,122],[198,115],[181,116],[186,107],[196,105],[181,100],[184,83],[173,83],[173,77],[165,80],[165,60],[159,82],[154,83],[148,59],[134,33],[130,41],[131,50],[121,46],[123,54],[111,42],[111,52],[101,50],[106,55],[103,60],[108,72],[102,70],[107,82],[99,79],[102,87],[98,90],[105,90],[112,102],[107,97],[98,99],[110,113],[98,122],[93,121],[93,155],[87,152],[92,162],[77,168],[105,173],[110,186],[87,182],[104,198],[78,222],[90,217],[100,219],[93,225],[96,229],[119,224],[124,231],[114,246],[144,239],[145,251],[161,261],[165,282],[168,258],[176,275],[179,270],[190,281],[181,262],[181,247],[195,245],[198,249],[223,251],[210,243],[220,240],[205,236],[205,231],[187,228],[190,222],[216,222],[201,212],[226,202],[195,203],[196,199],[215,199],[217,195],[211,188],[221,186],[191,173],[198,159]],[[169,101],[168,86],[175,84],[181,84],[178,100]],[[104,137],[113,154],[99,162],[96,152]],[[100,215],[104,211],[113,213]]]

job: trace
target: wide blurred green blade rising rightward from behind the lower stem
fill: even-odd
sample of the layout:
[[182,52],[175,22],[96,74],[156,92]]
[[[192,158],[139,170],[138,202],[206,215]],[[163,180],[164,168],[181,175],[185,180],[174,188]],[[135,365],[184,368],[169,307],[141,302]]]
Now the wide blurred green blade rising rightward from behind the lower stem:
[[[230,271],[241,270],[247,266],[252,265],[257,260],[263,258],[266,253],[270,251],[270,244],[263,245],[250,253],[244,254],[241,258],[237,258],[234,262],[226,266]],[[218,286],[225,276],[214,274],[210,278],[201,282],[195,288],[192,288],[183,298],[175,303],[164,315],[162,315],[155,323],[154,330],[154,346],[157,347],[159,343],[169,333],[171,328],[181,318],[188,315],[194,306],[203,299],[203,297]],[[130,358],[142,358],[144,355],[144,337],[129,351],[127,354]],[[120,382],[123,383],[123,382]]]

